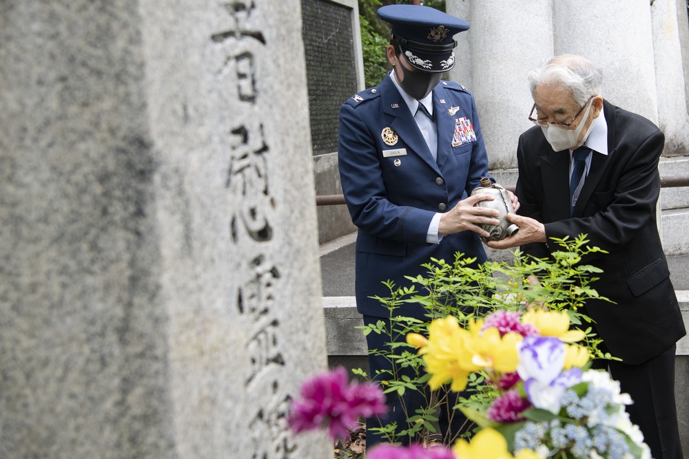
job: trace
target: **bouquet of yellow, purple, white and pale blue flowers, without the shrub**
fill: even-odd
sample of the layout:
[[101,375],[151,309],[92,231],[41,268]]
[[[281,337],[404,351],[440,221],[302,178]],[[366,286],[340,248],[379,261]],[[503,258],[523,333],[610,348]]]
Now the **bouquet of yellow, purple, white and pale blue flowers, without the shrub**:
[[[590,370],[584,339],[569,330],[565,311],[496,311],[461,328],[452,316],[435,319],[429,338],[409,334],[419,348],[429,385],[466,387],[484,372],[493,389],[485,409],[462,408],[483,429],[453,452],[473,458],[650,458],[639,428],[625,411],[632,403],[607,372]],[[512,454],[515,456],[512,456]]]

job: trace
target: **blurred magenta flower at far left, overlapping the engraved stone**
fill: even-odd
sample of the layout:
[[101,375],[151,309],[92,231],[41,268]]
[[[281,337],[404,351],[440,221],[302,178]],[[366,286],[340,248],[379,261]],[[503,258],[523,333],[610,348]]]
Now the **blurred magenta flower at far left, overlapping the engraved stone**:
[[287,417],[295,433],[327,426],[331,438],[347,438],[360,417],[387,412],[382,390],[371,383],[348,384],[342,367],[309,378],[299,393],[302,400],[293,401]]

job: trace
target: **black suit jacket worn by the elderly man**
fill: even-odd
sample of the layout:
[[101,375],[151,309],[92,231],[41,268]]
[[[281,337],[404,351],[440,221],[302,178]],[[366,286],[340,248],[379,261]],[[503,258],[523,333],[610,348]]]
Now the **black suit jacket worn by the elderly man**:
[[[604,114],[608,156],[593,152],[572,217],[568,151],[553,151],[539,127],[520,136],[518,213],[544,223],[548,239],[586,233],[588,245],[609,252],[584,261],[603,270],[592,287],[616,304],[591,300],[585,312],[608,350],[635,364],[686,334],[656,221],[665,136],[646,118],[607,101]],[[543,258],[559,248],[549,242],[522,250]]]

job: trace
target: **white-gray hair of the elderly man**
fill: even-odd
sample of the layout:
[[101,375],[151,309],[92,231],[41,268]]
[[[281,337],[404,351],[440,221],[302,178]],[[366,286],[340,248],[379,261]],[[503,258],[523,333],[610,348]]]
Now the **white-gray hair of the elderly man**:
[[532,97],[537,86],[568,87],[575,102],[583,106],[591,96],[600,95],[603,72],[581,56],[563,54],[529,72],[528,84]]

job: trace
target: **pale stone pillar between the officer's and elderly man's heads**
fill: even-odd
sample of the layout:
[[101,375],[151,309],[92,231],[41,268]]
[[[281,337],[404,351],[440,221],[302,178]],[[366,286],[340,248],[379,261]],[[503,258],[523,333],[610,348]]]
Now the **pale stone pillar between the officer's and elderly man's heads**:
[[[450,14],[462,17],[468,9],[462,2],[447,2]],[[455,51],[453,75],[477,100],[490,169],[517,167],[517,139],[533,126],[527,119],[533,99],[526,74],[553,54],[551,12],[550,0],[474,1],[466,19],[471,28],[457,35],[465,42]],[[460,79],[467,70],[471,85]]]

